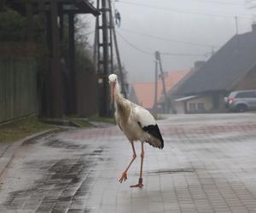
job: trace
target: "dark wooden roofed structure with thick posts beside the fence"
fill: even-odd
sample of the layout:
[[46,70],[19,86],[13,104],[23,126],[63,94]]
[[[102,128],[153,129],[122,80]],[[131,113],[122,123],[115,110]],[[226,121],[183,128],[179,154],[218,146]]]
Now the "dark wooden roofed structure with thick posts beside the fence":
[[[76,100],[76,72],[75,72],[75,43],[74,16],[75,14],[99,15],[87,0],[9,0],[12,9],[26,15],[28,18],[28,37],[33,40],[33,14],[41,14],[47,29],[47,43],[49,49],[49,72],[46,73],[44,91],[42,95],[41,114],[49,117],[61,117],[64,113],[77,112]],[[68,15],[68,85],[64,95],[63,67],[61,67],[61,39],[63,35],[64,15]],[[67,99],[66,101],[64,101]],[[67,103],[67,107],[65,104]],[[66,109],[65,109],[66,108]],[[66,111],[66,112],[65,112]]]

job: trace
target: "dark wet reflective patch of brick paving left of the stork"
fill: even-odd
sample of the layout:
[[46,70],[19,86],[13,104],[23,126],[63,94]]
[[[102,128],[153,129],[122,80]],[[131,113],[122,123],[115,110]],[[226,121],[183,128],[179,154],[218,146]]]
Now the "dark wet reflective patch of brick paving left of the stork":
[[[6,210],[23,210],[24,212],[26,210],[32,212],[65,212],[67,210],[69,212],[89,212],[90,210],[85,207],[84,199],[93,184],[95,176],[93,167],[98,160],[103,160],[104,147],[100,146],[94,149],[87,144],[61,141],[55,137],[41,139],[37,143],[28,141],[21,147],[20,152],[26,153],[27,147],[32,150],[43,147],[43,152],[47,152],[48,148],[60,149],[62,156],[59,159],[40,159],[42,154],[44,155],[44,153],[40,153],[38,158],[25,160],[21,168],[26,172],[24,178],[34,176],[34,172],[40,177],[34,180],[28,188],[10,191],[8,196],[5,196],[6,199],[2,207]],[[68,153],[67,158],[63,158],[66,153]],[[60,155],[60,152],[55,152],[55,154]],[[22,174],[20,175],[22,176]]]

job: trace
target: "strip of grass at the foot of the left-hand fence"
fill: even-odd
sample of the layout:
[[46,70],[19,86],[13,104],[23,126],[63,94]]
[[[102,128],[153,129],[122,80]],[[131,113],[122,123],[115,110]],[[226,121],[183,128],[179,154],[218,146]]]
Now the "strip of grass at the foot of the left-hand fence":
[[40,122],[35,116],[29,116],[8,124],[1,124],[0,142],[17,141],[28,135],[50,129],[53,129],[51,125]]

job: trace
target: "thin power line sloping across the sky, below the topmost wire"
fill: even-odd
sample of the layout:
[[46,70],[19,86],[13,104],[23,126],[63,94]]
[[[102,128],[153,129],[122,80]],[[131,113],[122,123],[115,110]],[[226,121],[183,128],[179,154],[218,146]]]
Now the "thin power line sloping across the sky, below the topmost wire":
[[135,32],[135,31],[131,31],[131,30],[126,30],[124,28],[119,28],[119,30],[121,30],[123,32],[129,32],[129,33],[137,34],[137,35],[140,35],[140,36],[143,36],[143,37],[152,37],[152,38],[159,39],[159,40],[162,40],[162,41],[167,41],[167,42],[185,43],[185,44],[189,44],[189,45],[193,45],[193,46],[201,46],[201,47],[207,47],[207,48],[217,47],[217,45],[211,45],[211,44],[205,44],[205,43],[192,43],[192,42],[187,42],[187,41],[170,39],[170,38],[167,38],[167,37],[158,37],[158,36],[154,36],[154,35],[150,35],[150,34],[146,34],[146,33],[142,33],[142,32]]

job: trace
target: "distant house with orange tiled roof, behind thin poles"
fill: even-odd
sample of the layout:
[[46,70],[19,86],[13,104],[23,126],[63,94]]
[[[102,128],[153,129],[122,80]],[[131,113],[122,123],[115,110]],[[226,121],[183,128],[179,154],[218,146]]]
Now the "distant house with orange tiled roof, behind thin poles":
[[[166,92],[168,93],[188,72],[189,70],[165,72]],[[156,106],[154,106],[154,82],[132,83],[129,99],[150,111],[163,112],[164,102],[160,102],[160,100],[165,100],[162,81],[159,79],[157,82]],[[169,112],[170,108],[167,111]]]

